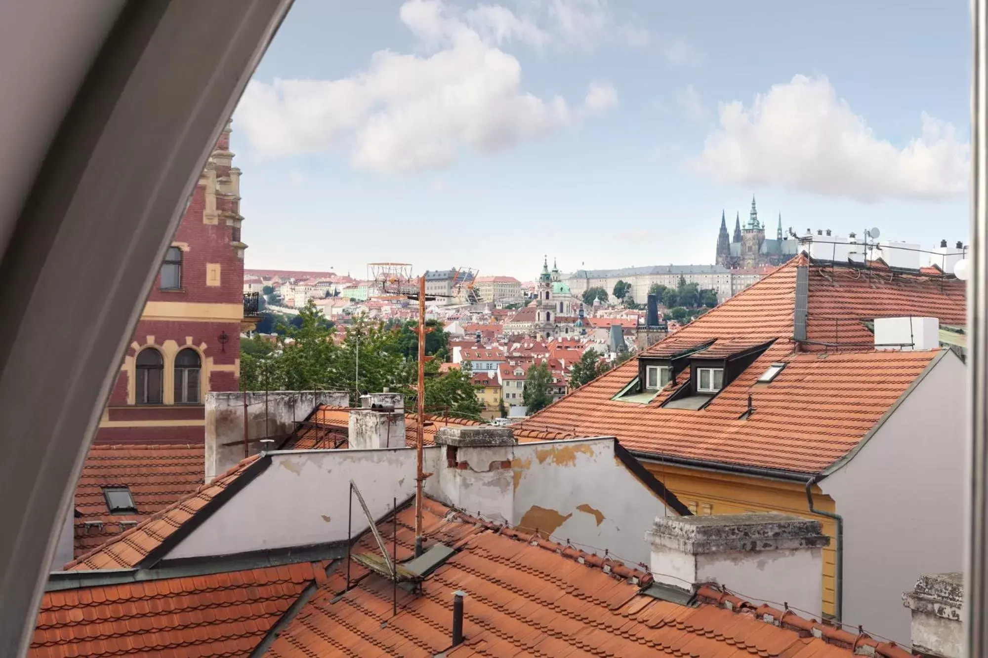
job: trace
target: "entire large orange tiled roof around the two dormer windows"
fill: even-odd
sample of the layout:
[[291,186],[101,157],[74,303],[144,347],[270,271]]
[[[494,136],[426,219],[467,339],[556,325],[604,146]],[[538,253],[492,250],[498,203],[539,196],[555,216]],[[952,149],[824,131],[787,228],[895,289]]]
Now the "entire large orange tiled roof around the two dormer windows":
[[[846,348],[807,345],[793,352],[800,265],[808,266],[809,274],[808,338]],[[955,279],[821,267],[797,256],[645,351],[645,356],[669,357],[715,340],[707,354],[722,357],[742,343],[775,340],[706,407],[661,407],[685,380],[682,373],[648,404],[612,400],[637,374],[632,359],[516,425],[516,436],[524,439],[526,430],[543,433],[542,438],[615,435],[632,451],[819,472],[854,448],[940,354],[875,352],[863,320],[913,314],[962,325],[964,312],[964,284]],[[772,383],[756,384],[777,362],[790,365]],[[749,394],[756,412],[741,419]]]

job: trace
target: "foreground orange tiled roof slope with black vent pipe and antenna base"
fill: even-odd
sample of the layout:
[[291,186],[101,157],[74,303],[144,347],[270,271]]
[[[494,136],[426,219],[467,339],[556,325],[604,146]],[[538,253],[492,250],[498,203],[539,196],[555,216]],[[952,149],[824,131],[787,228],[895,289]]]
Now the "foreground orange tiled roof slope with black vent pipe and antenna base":
[[[412,510],[400,511],[398,520],[400,561],[412,551]],[[390,525],[378,525],[388,546]],[[397,590],[396,617],[391,583],[354,563],[356,584],[345,591],[346,569],[336,569],[266,655],[837,658],[854,655],[854,645],[886,658],[910,655],[710,588],[700,590],[699,608],[660,601],[640,594],[651,580],[647,573],[433,501],[426,504],[425,532],[427,548],[442,541],[458,552],[427,577],[421,595]],[[375,547],[364,541],[361,550]],[[465,641],[451,650],[455,590],[466,592]]]

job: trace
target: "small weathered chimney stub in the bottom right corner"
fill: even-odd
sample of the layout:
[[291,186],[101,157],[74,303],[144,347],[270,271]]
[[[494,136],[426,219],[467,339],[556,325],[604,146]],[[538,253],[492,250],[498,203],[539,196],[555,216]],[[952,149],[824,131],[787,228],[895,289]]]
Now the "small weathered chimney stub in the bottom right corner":
[[913,652],[923,656],[960,658],[964,643],[964,577],[960,573],[922,576],[916,587],[902,595],[912,611]]

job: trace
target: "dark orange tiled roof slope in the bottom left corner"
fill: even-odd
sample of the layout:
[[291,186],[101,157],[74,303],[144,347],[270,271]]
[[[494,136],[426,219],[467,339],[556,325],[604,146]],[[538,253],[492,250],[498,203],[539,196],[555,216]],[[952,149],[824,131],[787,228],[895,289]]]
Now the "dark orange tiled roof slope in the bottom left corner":
[[325,562],[47,592],[28,655],[248,656]]

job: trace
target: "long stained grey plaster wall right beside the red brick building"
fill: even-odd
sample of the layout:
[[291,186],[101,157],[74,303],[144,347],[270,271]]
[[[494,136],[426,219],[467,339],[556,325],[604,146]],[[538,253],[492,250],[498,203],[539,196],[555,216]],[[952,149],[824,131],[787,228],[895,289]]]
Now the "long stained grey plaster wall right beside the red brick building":
[[[243,395],[240,391],[206,393],[206,482],[244,458]],[[260,442],[252,440],[285,436],[294,430],[295,421],[304,420],[320,404],[347,407],[350,396],[345,391],[248,391],[250,453],[262,450]]]

